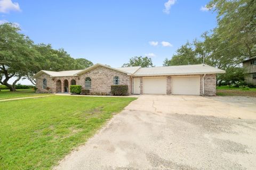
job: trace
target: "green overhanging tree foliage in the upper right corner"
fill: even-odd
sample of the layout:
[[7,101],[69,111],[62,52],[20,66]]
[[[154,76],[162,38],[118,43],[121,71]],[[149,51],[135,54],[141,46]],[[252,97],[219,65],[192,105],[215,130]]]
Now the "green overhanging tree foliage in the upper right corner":
[[243,46],[244,56],[256,55],[256,2],[255,0],[212,0],[208,5],[218,13],[217,32],[231,45]]

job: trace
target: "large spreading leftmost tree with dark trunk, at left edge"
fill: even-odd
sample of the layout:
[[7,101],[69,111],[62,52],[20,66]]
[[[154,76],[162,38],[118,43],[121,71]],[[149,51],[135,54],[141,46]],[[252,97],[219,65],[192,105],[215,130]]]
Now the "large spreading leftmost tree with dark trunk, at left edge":
[[[33,41],[12,23],[0,25],[0,83],[15,91],[15,84],[26,75],[38,55]],[[8,81],[17,78],[12,84]]]

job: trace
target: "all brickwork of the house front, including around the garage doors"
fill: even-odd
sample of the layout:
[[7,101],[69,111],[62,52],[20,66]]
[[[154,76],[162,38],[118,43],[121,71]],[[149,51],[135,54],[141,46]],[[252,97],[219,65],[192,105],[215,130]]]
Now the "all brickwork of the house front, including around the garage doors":
[[[38,88],[38,92],[65,92],[65,88],[68,89],[71,84],[71,80],[75,80],[77,85],[81,85],[82,89],[85,88],[85,78],[91,78],[91,92],[104,92],[109,93],[111,89],[111,85],[114,84],[113,78],[115,76],[119,77],[119,84],[125,84],[128,86],[129,94],[132,94],[132,79],[130,75],[126,73],[119,72],[116,70],[109,69],[107,67],[98,66],[95,69],[87,71],[76,77],[50,77],[47,74],[42,74],[36,79],[36,87]],[[191,76],[191,75],[184,75]],[[215,96],[216,95],[216,75],[215,74],[206,74],[204,77],[204,94],[203,94],[203,74],[197,75],[200,77],[200,95],[205,96]],[[166,76],[166,94],[171,95],[171,83],[173,76]],[[42,83],[43,79],[47,80],[47,87],[50,89],[43,89]],[[134,77],[135,78],[135,77]],[[140,78],[140,94],[143,94],[143,79]],[[68,83],[68,86],[65,87],[65,82]]]

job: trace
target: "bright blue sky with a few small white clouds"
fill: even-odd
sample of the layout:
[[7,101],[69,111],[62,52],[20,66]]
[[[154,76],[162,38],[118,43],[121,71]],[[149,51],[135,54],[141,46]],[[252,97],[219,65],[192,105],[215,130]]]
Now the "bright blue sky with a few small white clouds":
[[15,22],[36,44],[94,64],[121,67],[131,57],[148,56],[162,66],[181,45],[216,27],[208,2],[0,0],[0,24]]

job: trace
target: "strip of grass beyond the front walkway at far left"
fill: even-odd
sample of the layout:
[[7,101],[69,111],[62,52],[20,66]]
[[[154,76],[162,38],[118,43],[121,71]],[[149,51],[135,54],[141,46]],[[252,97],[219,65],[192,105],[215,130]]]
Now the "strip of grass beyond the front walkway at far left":
[[33,89],[18,89],[17,91],[1,90],[0,100],[20,98],[20,97],[34,97],[34,96],[45,96],[51,94],[36,94]]

